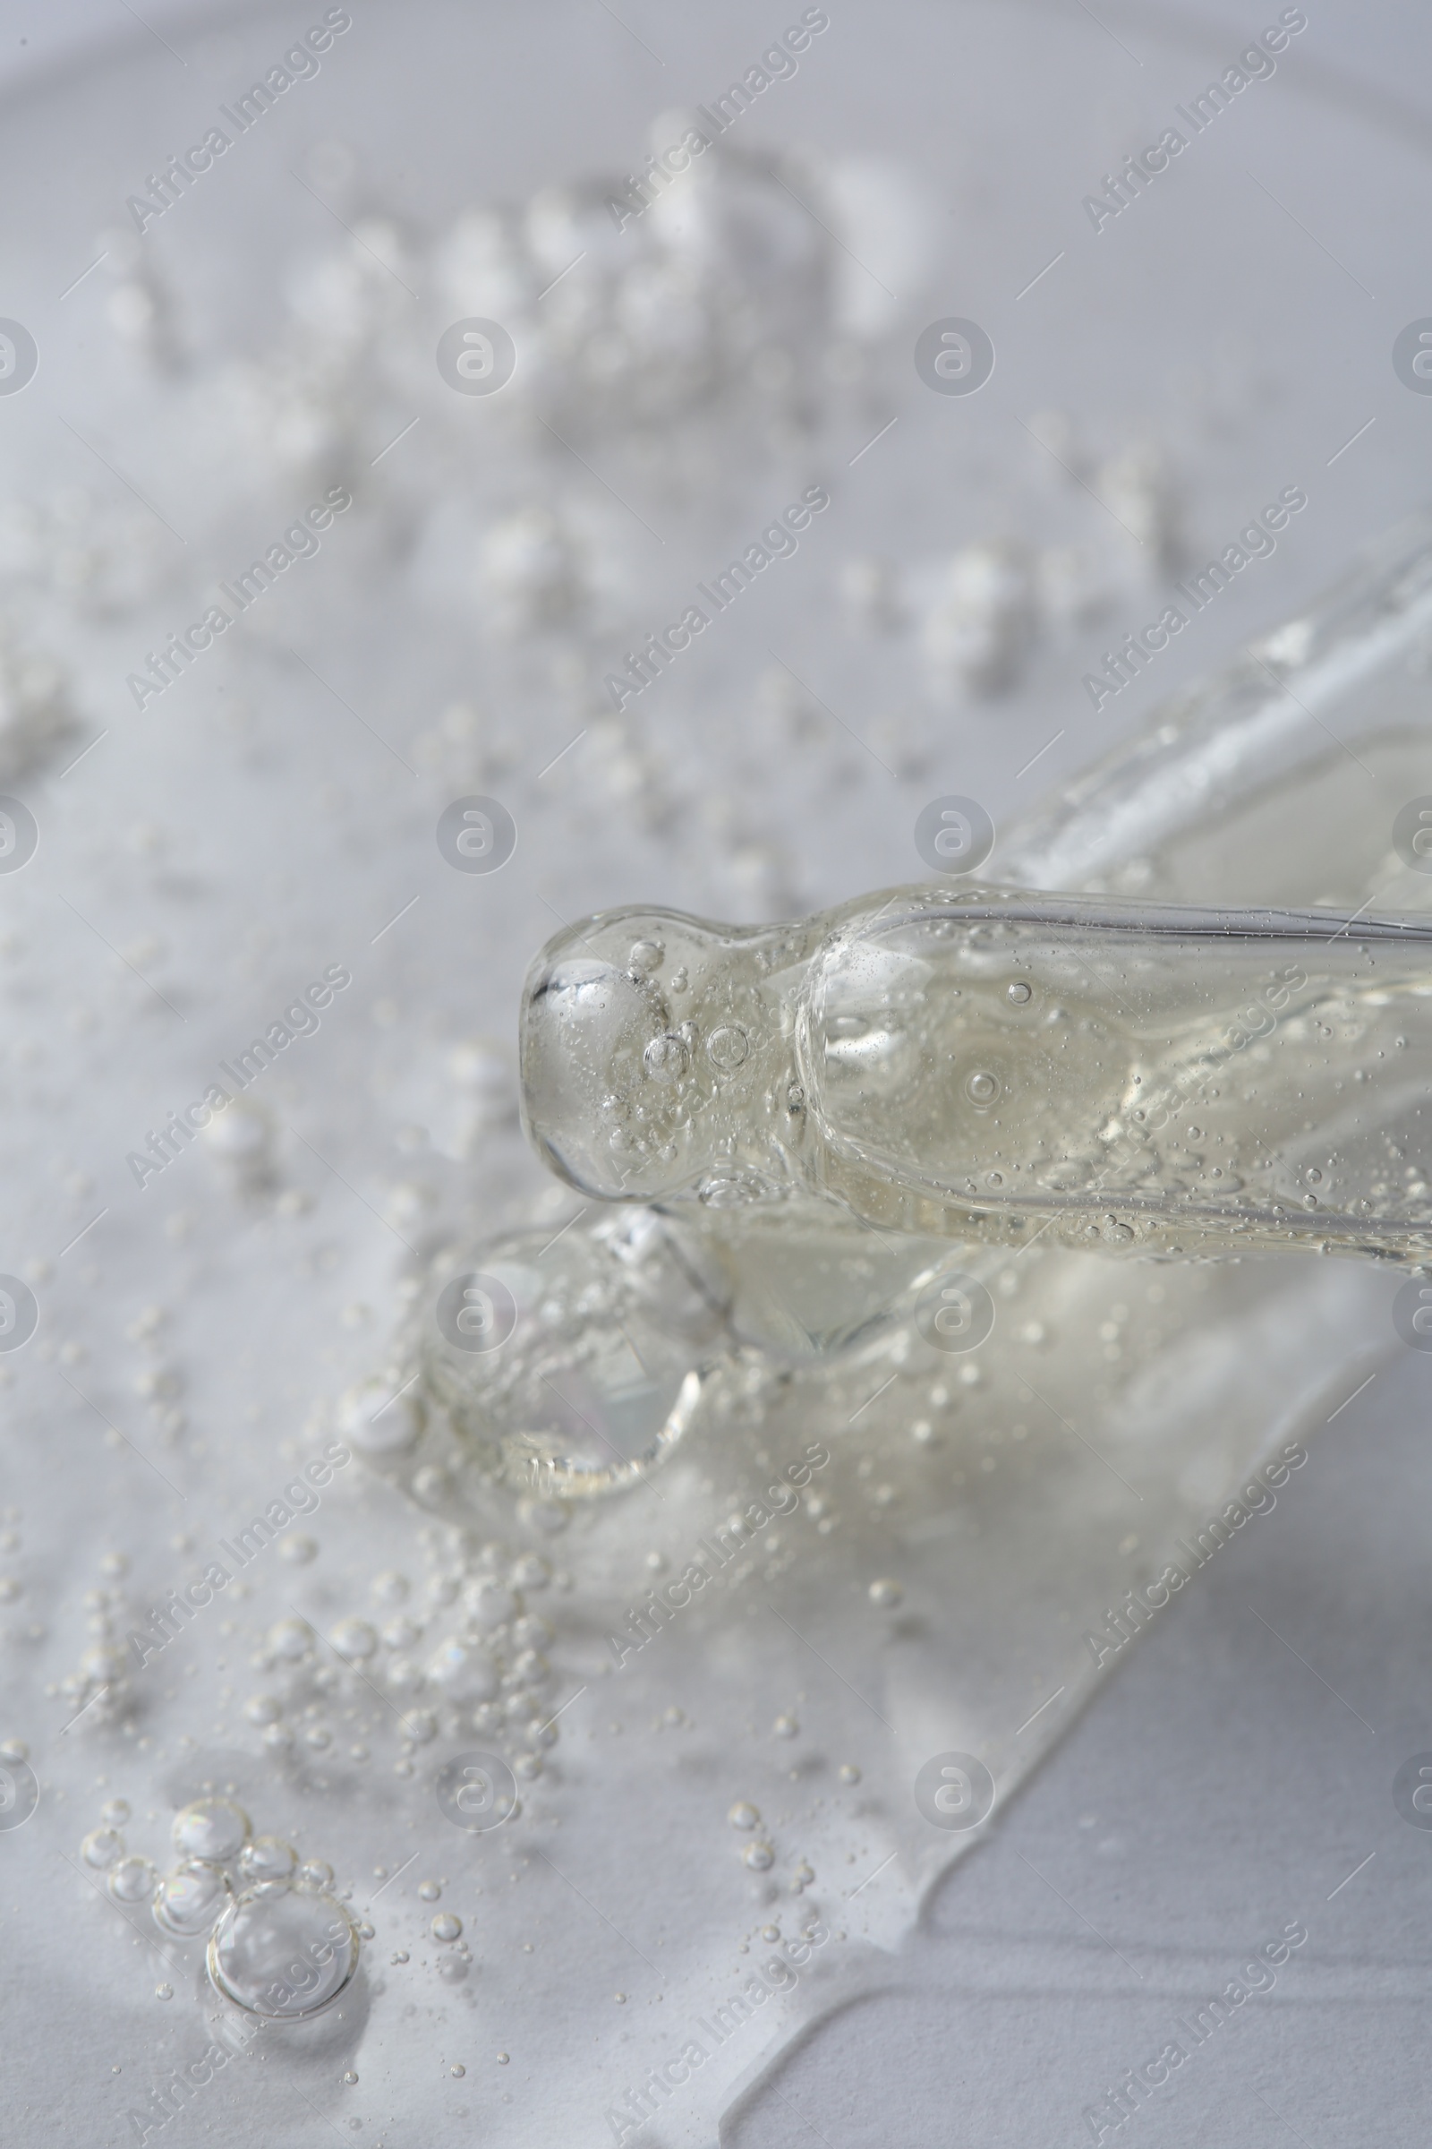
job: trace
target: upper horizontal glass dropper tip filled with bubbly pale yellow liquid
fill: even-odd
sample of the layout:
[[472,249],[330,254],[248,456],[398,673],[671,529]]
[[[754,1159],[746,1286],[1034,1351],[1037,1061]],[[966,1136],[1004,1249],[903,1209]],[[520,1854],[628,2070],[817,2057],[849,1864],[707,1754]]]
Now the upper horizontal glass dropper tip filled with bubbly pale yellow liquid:
[[[522,1006],[526,1124],[603,1201],[1200,1255],[1432,1251],[1432,926],[904,888],[616,911]],[[792,1257],[799,1251],[792,1246]]]

